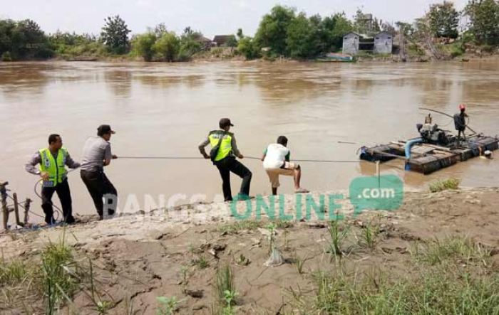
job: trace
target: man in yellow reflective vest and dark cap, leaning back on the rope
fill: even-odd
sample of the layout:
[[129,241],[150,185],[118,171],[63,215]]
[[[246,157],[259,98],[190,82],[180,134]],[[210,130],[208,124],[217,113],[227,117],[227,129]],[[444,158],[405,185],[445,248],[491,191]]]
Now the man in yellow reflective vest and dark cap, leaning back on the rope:
[[[232,191],[230,190],[230,172],[235,173],[242,178],[241,190],[238,200],[249,198],[249,185],[251,183],[252,173],[240,161],[236,160],[236,156],[243,159],[244,156],[237,149],[236,139],[232,132],[229,132],[230,127],[234,127],[230,119],[222,118],[218,123],[219,130],[211,131],[208,136],[199,144],[198,148],[205,159],[211,159],[205,151],[205,146],[210,144],[212,148],[218,148],[213,152],[212,161],[220,171],[222,177],[222,190],[225,201],[232,201]],[[210,152],[211,153],[211,152]]]

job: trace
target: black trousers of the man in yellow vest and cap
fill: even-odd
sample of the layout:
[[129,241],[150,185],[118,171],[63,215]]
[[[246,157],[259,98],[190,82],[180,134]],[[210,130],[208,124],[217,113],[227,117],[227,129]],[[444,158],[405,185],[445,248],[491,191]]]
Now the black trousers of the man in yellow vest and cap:
[[225,201],[232,201],[232,192],[230,190],[230,172],[235,173],[242,178],[241,190],[242,195],[249,196],[249,184],[251,183],[252,173],[246,166],[237,161],[234,156],[227,156],[225,159],[215,162],[220,176],[222,177],[222,190],[224,191]]

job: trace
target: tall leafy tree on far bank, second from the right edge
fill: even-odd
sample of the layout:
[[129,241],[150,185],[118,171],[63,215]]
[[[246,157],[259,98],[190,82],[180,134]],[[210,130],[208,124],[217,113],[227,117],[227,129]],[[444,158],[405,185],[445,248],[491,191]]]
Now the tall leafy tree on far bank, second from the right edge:
[[452,2],[432,4],[428,12],[431,33],[435,37],[458,37],[459,14]]

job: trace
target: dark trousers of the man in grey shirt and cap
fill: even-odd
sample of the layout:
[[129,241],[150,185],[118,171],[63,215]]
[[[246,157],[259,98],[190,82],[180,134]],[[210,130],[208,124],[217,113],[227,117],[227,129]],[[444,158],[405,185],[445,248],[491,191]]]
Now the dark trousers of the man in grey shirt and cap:
[[104,201],[106,199],[106,208],[108,213],[106,215],[113,215],[118,205],[118,192],[114,188],[102,170],[95,171],[80,171],[81,179],[88,189],[88,193],[92,197],[93,204],[96,205],[96,210],[100,218],[103,218]]

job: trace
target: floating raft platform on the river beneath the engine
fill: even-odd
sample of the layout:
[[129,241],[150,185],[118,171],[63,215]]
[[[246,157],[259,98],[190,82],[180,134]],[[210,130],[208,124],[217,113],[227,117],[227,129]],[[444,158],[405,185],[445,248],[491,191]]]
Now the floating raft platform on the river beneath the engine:
[[468,161],[480,156],[480,151],[499,149],[498,137],[475,134],[467,137],[466,141],[462,141],[459,146],[456,146],[455,141],[451,141],[451,144],[447,146],[428,143],[414,144],[411,147],[411,157],[406,159],[405,146],[406,142],[410,140],[412,139],[372,147],[363,146],[360,159],[381,162],[403,159],[406,161],[407,171],[415,171],[426,175],[453,166],[458,162]]

